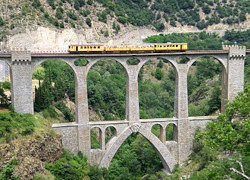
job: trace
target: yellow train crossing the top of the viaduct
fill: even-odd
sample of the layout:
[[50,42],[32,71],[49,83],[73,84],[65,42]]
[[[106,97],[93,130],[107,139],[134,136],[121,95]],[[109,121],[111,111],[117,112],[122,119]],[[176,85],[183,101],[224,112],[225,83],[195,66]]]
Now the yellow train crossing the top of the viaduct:
[[104,46],[104,45],[70,45],[69,53],[158,53],[186,51],[187,43],[164,43],[147,46]]

